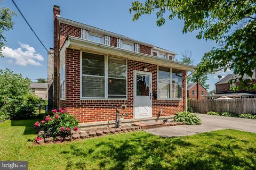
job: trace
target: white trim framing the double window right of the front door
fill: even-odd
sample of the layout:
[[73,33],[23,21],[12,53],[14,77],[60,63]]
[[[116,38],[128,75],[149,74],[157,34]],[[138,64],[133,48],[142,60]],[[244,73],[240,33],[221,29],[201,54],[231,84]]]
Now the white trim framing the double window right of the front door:
[[[180,101],[182,101],[182,99],[183,99],[183,80],[182,80],[182,84],[181,84],[181,87],[182,87],[182,91],[181,91],[181,98],[172,98],[172,68],[171,67],[166,67],[166,66],[162,66],[162,67],[166,67],[166,68],[170,68],[170,80],[171,80],[171,82],[170,82],[170,98],[158,98],[158,93],[159,93],[159,90],[158,90],[158,72],[159,72],[159,66],[162,66],[162,65],[157,65],[157,88],[156,88],[156,92],[157,92],[157,100],[180,100]],[[177,69],[177,70],[179,70],[179,69]],[[181,70],[181,72],[183,72],[182,70]],[[182,73],[181,73],[182,74]],[[183,79],[183,75],[182,75],[182,79]]]

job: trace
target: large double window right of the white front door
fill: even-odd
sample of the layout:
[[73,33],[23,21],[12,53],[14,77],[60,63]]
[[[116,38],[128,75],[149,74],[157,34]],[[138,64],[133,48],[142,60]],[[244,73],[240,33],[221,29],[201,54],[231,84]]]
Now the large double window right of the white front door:
[[158,66],[158,98],[181,99],[182,71]]

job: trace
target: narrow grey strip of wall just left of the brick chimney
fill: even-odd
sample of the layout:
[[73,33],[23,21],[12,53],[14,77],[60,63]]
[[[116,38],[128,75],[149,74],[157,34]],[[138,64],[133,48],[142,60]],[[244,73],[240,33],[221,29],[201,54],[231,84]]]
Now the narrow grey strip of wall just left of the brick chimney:
[[53,109],[53,48],[50,48],[47,60],[48,110]]

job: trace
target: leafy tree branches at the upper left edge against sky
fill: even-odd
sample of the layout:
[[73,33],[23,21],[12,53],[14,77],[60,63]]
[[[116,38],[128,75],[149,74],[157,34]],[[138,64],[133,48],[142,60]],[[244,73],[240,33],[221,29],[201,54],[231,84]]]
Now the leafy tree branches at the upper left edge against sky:
[[5,31],[12,29],[14,24],[12,21],[13,15],[16,15],[16,13],[11,11],[10,8],[0,8],[0,57],[3,57],[2,50],[6,42],[3,34]]

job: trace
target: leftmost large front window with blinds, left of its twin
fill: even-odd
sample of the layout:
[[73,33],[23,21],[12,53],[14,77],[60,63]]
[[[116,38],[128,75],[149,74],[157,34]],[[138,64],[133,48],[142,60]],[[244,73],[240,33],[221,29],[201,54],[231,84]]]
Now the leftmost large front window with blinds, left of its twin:
[[82,54],[82,97],[105,97],[105,56]]

